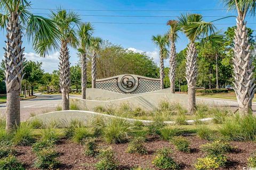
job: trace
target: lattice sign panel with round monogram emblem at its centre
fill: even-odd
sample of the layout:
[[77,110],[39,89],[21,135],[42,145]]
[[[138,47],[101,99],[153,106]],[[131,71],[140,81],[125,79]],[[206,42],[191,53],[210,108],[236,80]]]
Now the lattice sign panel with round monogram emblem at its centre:
[[161,82],[159,79],[127,74],[109,79],[97,80],[95,85],[98,89],[118,92],[121,94],[141,94],[161,89]]

